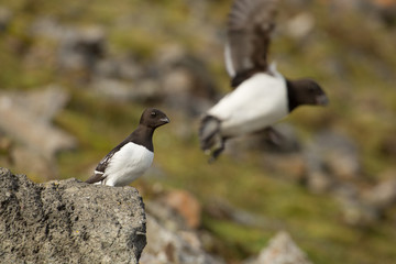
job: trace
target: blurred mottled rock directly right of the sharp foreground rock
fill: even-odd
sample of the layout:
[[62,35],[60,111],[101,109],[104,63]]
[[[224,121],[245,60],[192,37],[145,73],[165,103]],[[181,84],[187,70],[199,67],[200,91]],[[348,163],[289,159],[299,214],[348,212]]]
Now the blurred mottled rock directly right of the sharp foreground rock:
[[[212,237],[202,234],[186,222],[180,210],[166,202],[160,190],[154,200],[146,201],[147,246],[141,264],[222,264],[221,257],[209,254],[205,249],[212,248]],[[186,205],[187,206],[187,205]],[[188,207],[188,206],[187,206]],[[208,244],[210,244],[208,246]]]

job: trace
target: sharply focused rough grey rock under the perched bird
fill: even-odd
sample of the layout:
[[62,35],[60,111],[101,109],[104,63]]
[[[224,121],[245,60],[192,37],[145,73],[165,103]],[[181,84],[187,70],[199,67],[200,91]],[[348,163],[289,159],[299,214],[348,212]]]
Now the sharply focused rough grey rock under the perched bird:
[[139,263],[146,244],[132,187],[76,179],[34,184],[0,168],[2,263]]

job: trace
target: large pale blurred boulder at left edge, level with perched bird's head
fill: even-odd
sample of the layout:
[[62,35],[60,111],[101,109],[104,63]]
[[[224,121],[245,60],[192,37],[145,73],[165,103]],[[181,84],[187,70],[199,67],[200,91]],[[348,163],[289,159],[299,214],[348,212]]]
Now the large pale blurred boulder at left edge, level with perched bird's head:
[[0,128],[13,140],[51,161],[56,153],[76,146],[76,140],[51,121],[68,100],[62,88],[0,94]]

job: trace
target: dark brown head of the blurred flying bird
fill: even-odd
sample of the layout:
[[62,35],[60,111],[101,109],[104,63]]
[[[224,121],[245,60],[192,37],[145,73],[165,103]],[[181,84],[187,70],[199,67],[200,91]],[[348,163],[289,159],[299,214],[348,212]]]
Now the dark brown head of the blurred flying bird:
[[311,79],[287,80],[289,110],[304,105],[327,106],[329,99],[322,88]]

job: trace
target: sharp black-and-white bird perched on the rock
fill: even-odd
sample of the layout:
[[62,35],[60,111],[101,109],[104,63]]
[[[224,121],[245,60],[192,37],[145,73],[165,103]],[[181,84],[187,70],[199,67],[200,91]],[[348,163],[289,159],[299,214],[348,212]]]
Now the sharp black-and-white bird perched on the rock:
[[164,112],[154,108],[144,110],[138,128],[100,161],[86,183],[125,186],[142,176],[153,163],[154,130],[168,122]]

